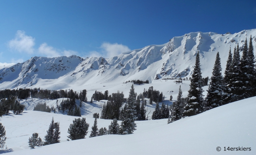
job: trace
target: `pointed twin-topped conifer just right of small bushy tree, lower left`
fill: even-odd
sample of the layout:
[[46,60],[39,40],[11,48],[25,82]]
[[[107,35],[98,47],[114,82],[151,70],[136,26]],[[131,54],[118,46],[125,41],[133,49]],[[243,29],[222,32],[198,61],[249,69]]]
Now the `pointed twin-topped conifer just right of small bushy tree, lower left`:
[[60,124],[54,123],[53,117],[49,129],[46,131],[47,134],[44,136],[44,145],[60,143]]

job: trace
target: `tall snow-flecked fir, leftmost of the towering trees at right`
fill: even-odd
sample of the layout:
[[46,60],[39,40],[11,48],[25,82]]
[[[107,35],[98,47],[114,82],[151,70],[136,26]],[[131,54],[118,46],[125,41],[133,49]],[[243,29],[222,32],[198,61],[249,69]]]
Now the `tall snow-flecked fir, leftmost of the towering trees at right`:
[[196,54],[196,64],[192,74],[188,90],[188,104],[183,112],[184,116],[193,116],[203,112],[203,89],[202,89],[202,73],[200,68],[199,52]]

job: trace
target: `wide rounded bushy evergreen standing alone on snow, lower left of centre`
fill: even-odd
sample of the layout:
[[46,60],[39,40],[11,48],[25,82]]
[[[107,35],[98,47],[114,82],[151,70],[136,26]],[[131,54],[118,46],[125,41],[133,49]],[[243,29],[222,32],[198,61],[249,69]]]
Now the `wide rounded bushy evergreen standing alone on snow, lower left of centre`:
[[71,140],[84,139],[88,133],[89,124],[86,123],[85,118],[78,118],[73,120],[73,124],[69,125],[68,133]]

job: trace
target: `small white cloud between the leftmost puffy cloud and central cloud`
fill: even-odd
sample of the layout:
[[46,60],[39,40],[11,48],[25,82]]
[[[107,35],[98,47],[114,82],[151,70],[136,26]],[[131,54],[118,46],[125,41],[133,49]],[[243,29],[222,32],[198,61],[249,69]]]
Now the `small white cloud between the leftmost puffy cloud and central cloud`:
[[40,45],[38,52],[50,58],[60,56],[60,53],[57,52],[57,50],[55,50],[52,46],[48,46],[46,43]]

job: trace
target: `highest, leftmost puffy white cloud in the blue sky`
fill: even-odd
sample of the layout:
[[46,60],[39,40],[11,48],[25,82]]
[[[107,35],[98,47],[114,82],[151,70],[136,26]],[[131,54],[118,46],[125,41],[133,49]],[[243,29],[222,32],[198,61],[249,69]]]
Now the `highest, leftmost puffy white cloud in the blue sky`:
[[35,38],[27,36],[24,31],[18,30],[15,38],[8,42],[8,46],[16,51],[32,54],[34,52]]

